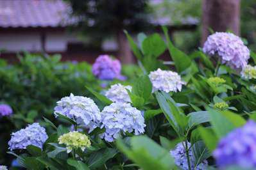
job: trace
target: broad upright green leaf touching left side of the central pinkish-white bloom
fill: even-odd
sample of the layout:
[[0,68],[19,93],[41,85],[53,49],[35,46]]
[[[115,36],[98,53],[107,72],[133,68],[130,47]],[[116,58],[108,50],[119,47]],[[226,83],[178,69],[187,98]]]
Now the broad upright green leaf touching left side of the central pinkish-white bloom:
[[132,93],[144,98],[144,102],[148,101],[152,92],[152,84],[148,75],[143,75],[137,79],[132,87]]

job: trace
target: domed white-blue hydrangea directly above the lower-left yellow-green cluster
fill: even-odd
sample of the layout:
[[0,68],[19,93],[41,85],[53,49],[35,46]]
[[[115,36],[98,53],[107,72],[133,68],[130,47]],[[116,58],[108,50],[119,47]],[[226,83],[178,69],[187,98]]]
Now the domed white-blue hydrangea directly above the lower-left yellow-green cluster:
[[92,99],[74,96],[72,93],[70,97],[64,97],[57,102],[54,113],[55,116],[58,116],[56,113],[63,114],[79,125],[87,126],[90,130],[98,127],[101,120],[99,108]]

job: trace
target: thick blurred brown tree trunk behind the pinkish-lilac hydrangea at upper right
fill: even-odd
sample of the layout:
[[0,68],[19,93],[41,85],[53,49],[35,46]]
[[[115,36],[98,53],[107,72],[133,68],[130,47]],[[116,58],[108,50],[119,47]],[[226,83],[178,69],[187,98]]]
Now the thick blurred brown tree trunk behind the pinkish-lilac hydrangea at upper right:
[[240,0],[203,0],[203,23],[201,44],[210,35],[209,29],[225,32],[231,30],[240,33]]

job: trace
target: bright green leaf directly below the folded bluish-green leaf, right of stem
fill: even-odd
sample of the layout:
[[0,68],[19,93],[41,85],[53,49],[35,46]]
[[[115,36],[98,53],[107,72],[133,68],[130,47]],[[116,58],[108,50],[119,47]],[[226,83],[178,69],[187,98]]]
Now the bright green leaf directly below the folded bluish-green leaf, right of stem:
[[214,130],[212,130],[212,128],[204,128],[204,127],[198,127],[198,130],[207,148],[211,152],[215,150],[218,144],[218,137],[214,133]]

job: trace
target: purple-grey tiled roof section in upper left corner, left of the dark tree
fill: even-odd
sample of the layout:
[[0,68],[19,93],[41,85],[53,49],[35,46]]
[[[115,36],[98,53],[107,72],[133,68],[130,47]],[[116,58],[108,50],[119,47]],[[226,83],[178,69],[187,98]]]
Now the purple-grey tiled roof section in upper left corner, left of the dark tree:
[[62,0],[0,0],[0,27],[64,27],[68,10]]

